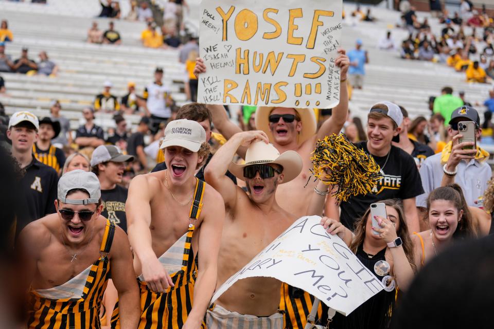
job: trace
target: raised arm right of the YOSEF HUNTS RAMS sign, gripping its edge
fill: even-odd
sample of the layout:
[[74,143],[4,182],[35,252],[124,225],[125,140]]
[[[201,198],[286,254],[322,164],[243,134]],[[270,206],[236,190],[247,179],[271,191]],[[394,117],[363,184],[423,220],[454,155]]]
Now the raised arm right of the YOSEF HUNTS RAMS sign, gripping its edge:
[[348,117],[348,87],[346,84],[348,66],[350,61],[344,49],[338,49],[340,56],[334,61],[340,68],[340,103],[333,108],[331,118],[324,121],[321,128],[316,134],[317,139],[323,139],[324,136],[339,134],[343,124]]

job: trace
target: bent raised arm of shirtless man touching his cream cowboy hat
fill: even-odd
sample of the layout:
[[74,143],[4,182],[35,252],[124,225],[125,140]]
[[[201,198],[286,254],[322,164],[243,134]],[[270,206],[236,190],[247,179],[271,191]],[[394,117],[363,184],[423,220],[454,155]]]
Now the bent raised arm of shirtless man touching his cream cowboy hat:
[[237,200],[237,189],[233,181],[225,176],[228,166],[240,145],[249,145],[254,140],[268,143],[268,136],[262,131],[248,131],[235,134],[216,151],[204,171],[206,182],[217,190],[225,201],[226,208],[233,209]]

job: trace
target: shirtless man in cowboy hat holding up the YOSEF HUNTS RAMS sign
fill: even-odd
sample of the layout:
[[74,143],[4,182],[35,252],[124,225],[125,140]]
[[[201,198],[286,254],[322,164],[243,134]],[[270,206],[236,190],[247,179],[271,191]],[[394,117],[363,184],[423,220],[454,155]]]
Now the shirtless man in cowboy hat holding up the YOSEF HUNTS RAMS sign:
[[[276,192],[277,202],[281,208],[295,215],[294,219],[311,215],[307,213],[313,188],[316,186],[314,179],[309,180],[309,169],[312,168],[310,154],[314,151],[318,139],[331,134],[339,134],[348,115],[348,90],[346,85],[347,70],[349,66],[345,50],[339,49],[339,57],[335,64],[340,68],[340,104],[333,108],[332,116],[326,120],[316,133],[315,116],[312,109],[287,108],[287,107],[259,107],[256,112],[256,127],[264,131],[273,143],[274,147],[283,153],[288,150],[296,151],[304,161],[301,173],[292,181],[283,184]],[[196,62],[195,74],[206,71],[202,59]],[[207,105],[213,114],[213,123],[218,131],[230,139],[241,131],[235,123],[228,119],[222,105]],[[238,154],[245,158],[245,148],[239,148]]]

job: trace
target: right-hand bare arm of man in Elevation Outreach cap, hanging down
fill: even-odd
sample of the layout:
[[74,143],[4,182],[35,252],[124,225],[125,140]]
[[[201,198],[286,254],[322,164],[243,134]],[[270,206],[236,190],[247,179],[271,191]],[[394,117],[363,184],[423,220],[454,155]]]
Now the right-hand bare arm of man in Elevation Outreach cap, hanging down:
[[[221,195],[210,186],[206,187],[207,198],[204,216],[199,231],[199,271],[194,285],[194,302],[187,321],[182,328],[201,327],[204,314],[216,287],[218,252],[225,218],[225,207]],[[206,252],[202,251],[206,250]]]

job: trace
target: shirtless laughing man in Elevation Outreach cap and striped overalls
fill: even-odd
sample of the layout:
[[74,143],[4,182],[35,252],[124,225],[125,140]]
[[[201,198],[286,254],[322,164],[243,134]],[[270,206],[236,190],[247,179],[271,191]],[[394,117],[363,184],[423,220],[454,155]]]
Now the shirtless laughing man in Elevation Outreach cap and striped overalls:
[[161,148],[168,169],[136,176],[126,203],[139,328],[198,329],[215,290],[223,199],[194,176],[209,154],[198,122],[168,123]]

